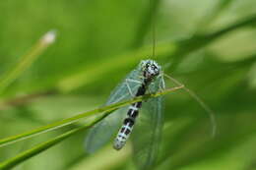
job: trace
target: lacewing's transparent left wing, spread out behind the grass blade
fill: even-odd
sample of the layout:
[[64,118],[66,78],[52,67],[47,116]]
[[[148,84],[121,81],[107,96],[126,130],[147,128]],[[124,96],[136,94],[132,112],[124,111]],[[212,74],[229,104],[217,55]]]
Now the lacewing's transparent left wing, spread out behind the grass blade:
[[[132,96],[129,92],[127,84],[130,86],[133,94],[136,93],[139,84],[126,80],[140,81],[140,70],[137,69],[132,71],[123,81],[123,83],[117,85],[110,94],[105,105],[116,103],[123,99],[131,98]],[[110,114],[102,121],[98,122],[94,126],[94,128],[90,130],[85,141],[86,149],[88,152],[95,152],[98,148],[103,146],[106,142],[109,142],[110,139],[116,135],[118,129],[123,122],[124,117],[126,116],[127,107],[116,110],[114,113]]]

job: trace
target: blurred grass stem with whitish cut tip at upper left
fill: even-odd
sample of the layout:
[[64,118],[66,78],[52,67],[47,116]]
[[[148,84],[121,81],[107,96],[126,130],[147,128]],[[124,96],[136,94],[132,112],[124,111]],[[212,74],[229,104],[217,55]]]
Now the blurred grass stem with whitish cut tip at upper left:
[[46,32],[32,47],[27,55],[21,58],[15,66],[13,66],[8,73],[6,73],[0,80],[0,94],[5,88],[12,84],[24,71],[26,71],[35,59],[46,50],[55,40],[55,31]]

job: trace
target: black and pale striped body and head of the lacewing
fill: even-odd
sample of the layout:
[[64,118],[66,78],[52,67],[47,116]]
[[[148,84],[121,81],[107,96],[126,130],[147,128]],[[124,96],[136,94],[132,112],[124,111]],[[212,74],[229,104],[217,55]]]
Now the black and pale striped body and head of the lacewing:
[[[143,75],[142,85],[138,88],[135,96],[144,95],[148,86],[160,74],[160,66],[153,60],[145,60],[141,63],[141,71]],[[133,103],[127,112],[127,117],[123,121],[123,125],[119,130],[114,141],[113,147],[117,150],[121,149],[129,138],[136,118],[139,114],[139,109],[142,107],[142,101]]]

